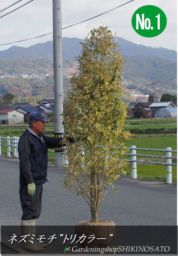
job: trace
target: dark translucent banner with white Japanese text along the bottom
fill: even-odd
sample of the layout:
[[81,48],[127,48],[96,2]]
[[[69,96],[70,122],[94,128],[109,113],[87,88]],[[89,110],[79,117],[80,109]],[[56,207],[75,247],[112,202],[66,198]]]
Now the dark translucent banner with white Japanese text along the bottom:
[[[177,253],[176,226],[2,226],[1,234],[9,254]],[[35,239],[48,246],[39,252],[25,250]]]

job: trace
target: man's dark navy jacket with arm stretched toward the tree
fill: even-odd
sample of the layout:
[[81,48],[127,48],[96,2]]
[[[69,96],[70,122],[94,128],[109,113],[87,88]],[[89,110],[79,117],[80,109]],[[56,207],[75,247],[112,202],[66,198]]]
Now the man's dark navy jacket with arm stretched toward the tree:
[[38,136],[26,130],[19,139],[20,184],[44,184],[47,180],[48,148],[62,147],[63,138]]

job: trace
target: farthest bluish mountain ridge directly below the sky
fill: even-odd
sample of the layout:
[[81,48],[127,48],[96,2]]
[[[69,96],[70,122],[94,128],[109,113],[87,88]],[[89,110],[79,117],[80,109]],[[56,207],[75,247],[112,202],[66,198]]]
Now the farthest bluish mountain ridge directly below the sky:
[[[176,61],[176,52],[165,48],[152,48],[144,45],[132,43],[123,38],[116,38],[117,44],[121,49],[121,54],[126,56],[153,56],[161,57]],[[63,60],[74,60],[74,56],[78,56],[81,51],[79,42],[84,42],[84,39],[78,38],[63,38],[62,54]],[[53,59],[53,41],[46,43],[35,44],[30,47],[13,46],[7,50],[0,51],[0,59],[28,59],[28,58],[49,58]]]

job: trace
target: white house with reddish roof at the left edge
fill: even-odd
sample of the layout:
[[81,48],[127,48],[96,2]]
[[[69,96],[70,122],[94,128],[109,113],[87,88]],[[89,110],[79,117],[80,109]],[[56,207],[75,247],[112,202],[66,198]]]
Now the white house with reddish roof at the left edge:
[[24,122],[24,113],[17,109],[1,109],[0,124],[17,124]]

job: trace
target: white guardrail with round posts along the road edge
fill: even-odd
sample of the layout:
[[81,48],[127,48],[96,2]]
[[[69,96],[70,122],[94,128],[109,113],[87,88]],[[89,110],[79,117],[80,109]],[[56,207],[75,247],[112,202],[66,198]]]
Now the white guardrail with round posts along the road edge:
[[[7,156],[11,157],[11,153],[13,153],[13,156],[18,158],[18,141],[19,141],[19,137],[2,137],[0,135],[0,155],[2,154],[2,146],[3,147],[7,147]],[[13,150],[11,150],[11,146],[13,148]],[[75,147],[77,147],[78,144],[73,144],[74,150]],[[103,147],[97,145],[97,147]],[[122,147],[117,147],[119,149],[121,149]],[[67,148],[66,147],[62,147],[62,149],[64,150],[64,152],[62,152],[62,154],[64,154],[64,158],[65,158],[65,165],[68,165],[68,160],[67,160]],[[131,156],[131,159],[120,159],[117,158],[118,160],[125,160],[128,162],[131,162],[131,177],[132,178],[137,178],[137,163],[146,163],[146,164],[156,164],[156,165],[165,165],[166,166],[166,183],[171,184],[172,183],[172,166],[177,166],[177,164],[172,164],[172,159],[176,160],[176,157],[172,157],[172,153],[176,153],[176,150],[171,150],[171,148],[166,148],[166,149],[146,149],[146,148],[137,148],[135,145],[132,145],[131,147],[127,147],[128,150],[131,151],[130,154],[124,154],[125,156]],[[158,156],[158,155],[143,155],[143,154],[137,154],[137,150],[141,150],[141,151],[157,151],[157,152],[165,152],[166,156]],[[81,149],[81,155],[84,157],[84,150]],[[53,152],[55,153],[55,151],[53,150],[49,150],[49,152]],[[116,152],[113,152],[113,154],[116,154]],[[121,153],[120,153],[121,154]],[[153,162],[153,161],[143,161],[141,160],[137,160],[137,156],[138,157],[151,157],[151,158],[162,158],[165,159],[166,162]],[[103,157],[101,157],[103,158]],[[108,157],[106,157],[108,158]],[[83,167],[83,166],[81,166]]]

